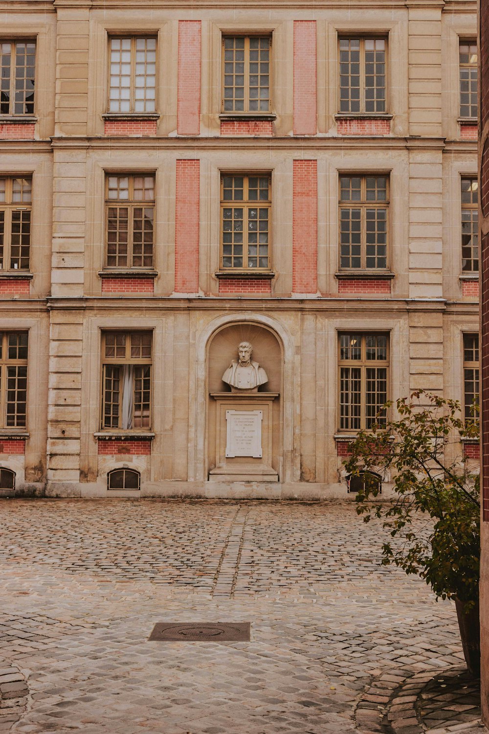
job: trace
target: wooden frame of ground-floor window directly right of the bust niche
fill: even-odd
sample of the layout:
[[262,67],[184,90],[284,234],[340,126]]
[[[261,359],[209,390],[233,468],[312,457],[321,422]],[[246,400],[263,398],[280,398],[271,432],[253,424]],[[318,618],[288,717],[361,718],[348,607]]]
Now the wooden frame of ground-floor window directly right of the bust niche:
[[[341,358],[341,337],[342,336],[356,336],[361,338],[361,358],[359,360],[342,360]],[[386,338],[386,359],[385,360],[367,360],[366,355],[366,339],[368,336],[383,336]],[[359,431],[369,430],[370,426],[367,426],[367,368],[385,368],[386,370],[386,400],[389,400],[390,393],[390,364],[391,364],[391,351],[390,351],[390,333],[386,331],[364,331],[364,330],[341,330],[337,333],[337,379],[338,379],[338,409],[337,409],[337,425],[339,426],[339,432],[350,433],[355,435]],[[342,403],[341,403],[341,371],[342,368],[360,368],[360,425],[358,428],[343,428],[342,427]],[[385,402],[385,401],[384,401]],[[387,415],[387,414],[386,414]],[[352,421],[352,416],[349,418]],[[381,428],[382,426],[380,426]]]

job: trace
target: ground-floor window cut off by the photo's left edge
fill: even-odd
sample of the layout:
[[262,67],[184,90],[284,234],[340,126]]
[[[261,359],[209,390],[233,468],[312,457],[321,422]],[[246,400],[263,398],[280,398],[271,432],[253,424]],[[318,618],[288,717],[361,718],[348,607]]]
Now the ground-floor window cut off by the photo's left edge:
[[0,428],[25,428],[27,332],[0,332]]

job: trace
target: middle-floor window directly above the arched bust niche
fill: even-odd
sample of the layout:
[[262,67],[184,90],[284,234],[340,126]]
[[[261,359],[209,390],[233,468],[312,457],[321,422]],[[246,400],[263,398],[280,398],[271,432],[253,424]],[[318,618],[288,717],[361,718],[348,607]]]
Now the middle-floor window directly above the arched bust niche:
[[221,268],[270,268],[271,178],[221,178]]

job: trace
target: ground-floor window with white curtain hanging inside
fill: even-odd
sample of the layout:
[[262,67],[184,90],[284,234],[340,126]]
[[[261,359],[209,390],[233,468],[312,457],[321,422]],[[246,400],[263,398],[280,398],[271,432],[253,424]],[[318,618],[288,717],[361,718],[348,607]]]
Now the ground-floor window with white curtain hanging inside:
[[150,428],[151,341],[147,331],[103,334],[103,429]]

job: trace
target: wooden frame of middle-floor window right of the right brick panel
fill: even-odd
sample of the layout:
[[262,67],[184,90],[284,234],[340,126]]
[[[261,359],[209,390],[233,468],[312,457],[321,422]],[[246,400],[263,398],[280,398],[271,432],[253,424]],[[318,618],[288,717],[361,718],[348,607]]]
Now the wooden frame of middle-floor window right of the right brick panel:
[[[342,201],[341,200],[341,179],[342,178],[360,178],[361,179],[361,198],[359,201]],[[385,178],[386,179],[386,200],[385,201],[367,201],[367,178]],[[389,272],[390,264],[390,243],[391,243],[391,177],[390,174],[372,171],[372,172],[339,172],[338,175],[338,269],[340,272],[358,272],[359,270],[367,273],[384,273]],[[360,266],[342,266],[342,209],[360,209],[361,210],[361,227],[360,227]],[[383,268],[367,267],[367,209],[386,209],[386,265]],[[350,255],[351,257],[351,255]]]

